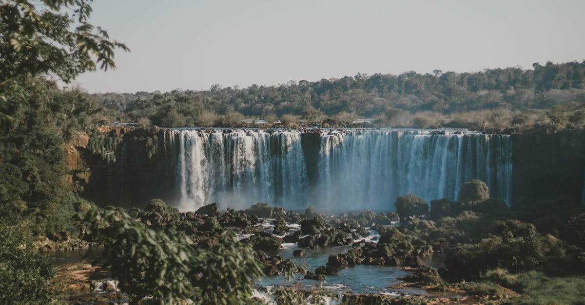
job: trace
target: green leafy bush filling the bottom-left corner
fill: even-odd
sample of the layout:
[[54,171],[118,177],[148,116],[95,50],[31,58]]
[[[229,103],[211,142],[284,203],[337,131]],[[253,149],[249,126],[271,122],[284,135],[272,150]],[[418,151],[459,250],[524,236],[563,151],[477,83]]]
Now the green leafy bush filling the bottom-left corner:
[[17,227],[0,227],[0,303],[48,304],[56,268]]

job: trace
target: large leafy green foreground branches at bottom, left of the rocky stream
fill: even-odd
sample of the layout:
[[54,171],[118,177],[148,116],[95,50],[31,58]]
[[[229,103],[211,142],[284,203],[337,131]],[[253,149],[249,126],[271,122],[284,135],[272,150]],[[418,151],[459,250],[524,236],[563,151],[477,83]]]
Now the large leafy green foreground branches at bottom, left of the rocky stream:
[[94,209],[91,219],[96,221],[92,233],[105,244],[105,265],[131,303],[146,296],[162,303],[245,303],[251,280],[263,274],[252,248],[236,242],[233,233],[221,233],[220,247],[206,250],[195,248],[184,234],[154,231],[120,210]]

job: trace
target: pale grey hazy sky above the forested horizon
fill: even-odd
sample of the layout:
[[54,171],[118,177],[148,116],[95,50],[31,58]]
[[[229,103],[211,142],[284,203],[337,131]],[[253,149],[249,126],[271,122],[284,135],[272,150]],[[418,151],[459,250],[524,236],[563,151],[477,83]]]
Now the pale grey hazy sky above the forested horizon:
[[585,60],[583,0],[95,0],[126,43],[94,92],[278,85],[345,75],[474,72]]

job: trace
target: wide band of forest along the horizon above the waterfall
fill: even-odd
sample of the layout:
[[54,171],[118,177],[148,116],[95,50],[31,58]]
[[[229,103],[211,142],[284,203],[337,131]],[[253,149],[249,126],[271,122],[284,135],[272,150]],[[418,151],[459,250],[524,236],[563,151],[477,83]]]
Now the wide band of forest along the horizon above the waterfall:
[[[278,86],[208,91],[97,93],[121,120],[165,127],[234,126],[244,117],[272,122],[347,126],[371,118],[379,126],[505,127],[512,124],[585,123],[585,61],[533,70],[498,68],[476,73],[433,71],[360,74]],[[552,109],[554,113],[550,111]],[[574,113],[575,110],[580,112]],[[573,124],[574,126],[567,126]]]

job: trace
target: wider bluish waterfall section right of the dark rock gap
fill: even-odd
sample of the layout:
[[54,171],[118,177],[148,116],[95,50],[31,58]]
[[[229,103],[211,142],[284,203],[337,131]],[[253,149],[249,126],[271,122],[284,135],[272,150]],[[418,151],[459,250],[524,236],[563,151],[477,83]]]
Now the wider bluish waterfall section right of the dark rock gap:
[[319,203],[388,209],[397,196],[456,200],[480,179],[510,202],[510,137],[428,130],[330,131],[321,137]]

